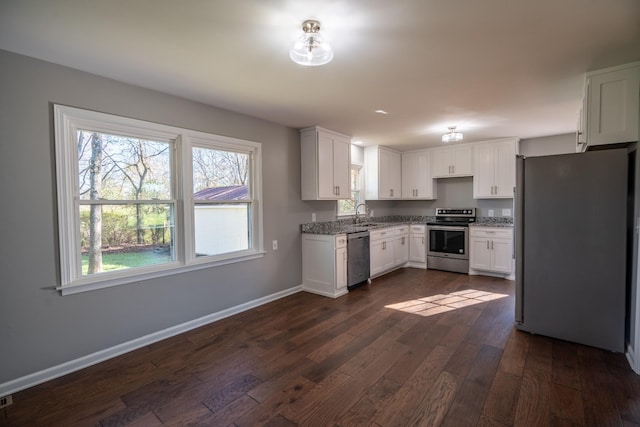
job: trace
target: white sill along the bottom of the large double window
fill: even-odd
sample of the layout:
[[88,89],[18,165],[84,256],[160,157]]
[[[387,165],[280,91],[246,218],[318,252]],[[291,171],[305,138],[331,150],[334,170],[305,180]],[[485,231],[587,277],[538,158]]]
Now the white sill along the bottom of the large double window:
[[199,261],[195,260],[188,265],[183,264],[169,264],[164,268],[154,268],[151,271],[141,271],[137,273],[127,274],[126,276],[117,276],[111,278],[105,278],[103,280],[91,280],[87,281],[86,278],[77,280],[68,285],[59,286],[56,288],[60,291],[60,295],[73,295],[81,292],[95,291],[98,289],[111,288],[113,286],[126,285],[134,282],[141,282],[144,280],[154,279],[157,277],[172,276],[174,274],[186,273],[189,271],[202,270],[205,268],[216,267],[225,264],[234,264],[236,262],[249,261],[252,259],[258,259],[264,257],[265,251],[255,251],[242,256],[235,256],[227,259],[216,259],[215,261]]

